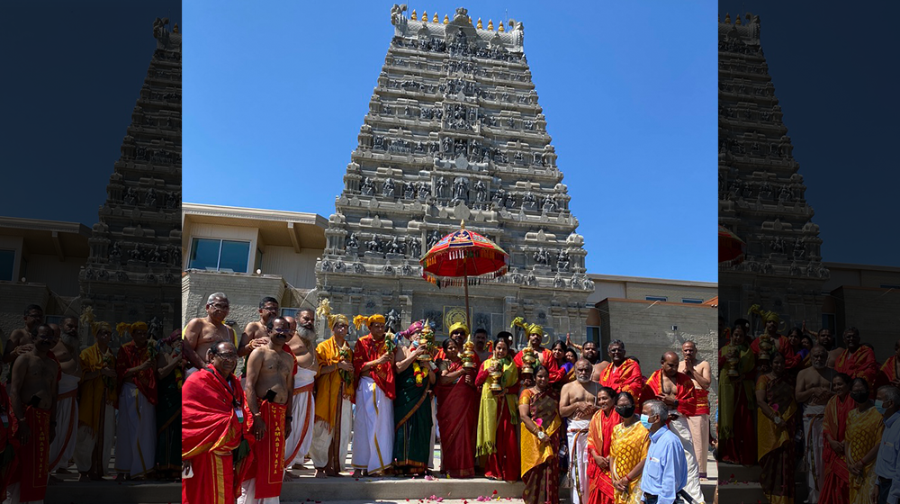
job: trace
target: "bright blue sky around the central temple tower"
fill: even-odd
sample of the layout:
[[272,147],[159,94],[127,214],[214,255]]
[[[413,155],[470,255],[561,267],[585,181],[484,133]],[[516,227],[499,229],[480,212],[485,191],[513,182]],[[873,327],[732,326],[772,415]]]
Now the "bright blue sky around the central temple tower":
[[[525,25],[588,271],[716,282],[716,3],[462,5]],[[184,202],[328,217],[391,6],[185,2]]]

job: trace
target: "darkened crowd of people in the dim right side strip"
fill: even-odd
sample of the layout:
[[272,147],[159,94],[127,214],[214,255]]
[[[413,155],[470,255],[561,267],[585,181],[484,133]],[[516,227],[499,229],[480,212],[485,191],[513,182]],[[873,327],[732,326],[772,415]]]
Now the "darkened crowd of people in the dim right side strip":
[[900,340],[879,365],[856,328],[840,347],[830,329],[783,336],[777,313],[752,313],[765,323],[758,338],[740,319],[720,343],[718,459],[759,464],[773,503],[794,501],[801,469],[809,504],[896,504]]

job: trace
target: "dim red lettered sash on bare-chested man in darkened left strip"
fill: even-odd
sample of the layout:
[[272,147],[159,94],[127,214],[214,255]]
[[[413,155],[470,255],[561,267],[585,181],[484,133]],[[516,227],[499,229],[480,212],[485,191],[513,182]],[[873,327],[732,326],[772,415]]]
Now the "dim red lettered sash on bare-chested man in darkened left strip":
[[[11,483],[21,483],[20,502],[43,500],[47,493],[47,473],[50,456],[50,412],[29,406],[25,409],[25,423],[31,430],[28,444],[17,450],[19,466]],[[18,431],[18,426],[15,432]],[[14,435],[15,435],[14,432]]]

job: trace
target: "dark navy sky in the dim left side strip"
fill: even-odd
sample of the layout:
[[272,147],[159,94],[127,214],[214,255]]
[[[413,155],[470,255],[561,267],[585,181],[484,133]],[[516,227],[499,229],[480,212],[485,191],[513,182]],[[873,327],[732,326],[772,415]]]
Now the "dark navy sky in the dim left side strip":
[[179,0],[4,2],[0,215],[93,226],[157,40]]

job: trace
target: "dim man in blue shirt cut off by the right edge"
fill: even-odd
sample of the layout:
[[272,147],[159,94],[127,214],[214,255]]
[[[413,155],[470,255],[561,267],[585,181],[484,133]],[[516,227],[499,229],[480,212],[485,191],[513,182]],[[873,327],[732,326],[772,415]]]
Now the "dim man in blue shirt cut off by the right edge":
[[878,389],[875,407],[885,418],[885,431],[878,446],[878,504],[898,504],[900,500],[900,389],[885,385]]

